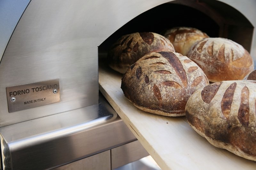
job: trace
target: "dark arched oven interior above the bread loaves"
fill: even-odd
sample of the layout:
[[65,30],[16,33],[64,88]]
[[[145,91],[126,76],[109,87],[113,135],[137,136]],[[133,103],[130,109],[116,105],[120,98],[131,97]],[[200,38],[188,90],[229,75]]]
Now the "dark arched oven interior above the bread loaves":
[[110,46],[122,35],[162,34],[175,26],[195,27],[210,37],[228,38],[251,50],[254,27],[240,11],[216,0],[175,0],[141,13],[116,30],[99,46],[99,56],[106,56]]

